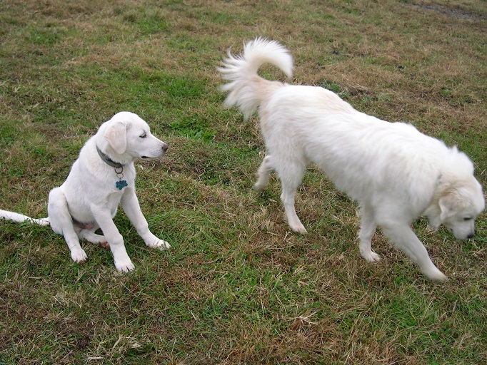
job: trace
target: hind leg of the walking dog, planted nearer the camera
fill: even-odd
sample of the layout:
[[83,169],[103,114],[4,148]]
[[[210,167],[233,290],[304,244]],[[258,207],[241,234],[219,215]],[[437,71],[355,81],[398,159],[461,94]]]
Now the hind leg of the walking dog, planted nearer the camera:
[[305,168],[306,166],[304,165],[298,165],[290,161],[283,161],[283,163],[276,164],[276,171],[281,179],[281,201],[286,210],[289,227],[294,232],[299,232],[302,235],[306,233],[306,228],[304,228],[296,214],[294,197],[296,195],[296,189],[301,184],[301,178],[303,178]]

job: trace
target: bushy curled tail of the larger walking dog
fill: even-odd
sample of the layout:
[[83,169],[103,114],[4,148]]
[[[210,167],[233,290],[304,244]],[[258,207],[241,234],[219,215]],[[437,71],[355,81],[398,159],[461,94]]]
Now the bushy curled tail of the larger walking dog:
[[272,63],[291,77],[293,58],[277,41],[260,37],[244,43],[240,56],[233,56],[230,51],[228,54],[222,66],[217,68],[222,77],[230,81],[221,86],[222,91],[229,91],[225,106],[238,106],[247,120],[269,95],[269,91],[283,86],[283,83],[258,76],[258,68],[263,63]]

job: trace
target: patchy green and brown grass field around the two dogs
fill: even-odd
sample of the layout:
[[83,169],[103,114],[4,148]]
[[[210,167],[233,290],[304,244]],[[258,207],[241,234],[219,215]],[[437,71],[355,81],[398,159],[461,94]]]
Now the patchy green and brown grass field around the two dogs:
[[[0,222],[0,364],[486,364],[487,216],[460,242],[414,223],[450,280],[428,281],[378,232],[358,253],[357,206],[311,166],[298,190],[253,192],[256,119],[222,107],[216,66],[266,36],[291,83],[458,145],[487,186],[483,0],[0,0],[0,207],[46,216],[49,190],[114,113],[169,144],[138,195],[168,252],[115,222],[136,269],[49,227]],[[272,67],[268,78],[284,80]]]

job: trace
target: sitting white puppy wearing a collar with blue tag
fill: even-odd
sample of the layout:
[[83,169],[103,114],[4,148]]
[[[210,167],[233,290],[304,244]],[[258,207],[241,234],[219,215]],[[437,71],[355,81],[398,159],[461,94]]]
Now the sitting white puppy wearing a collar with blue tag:
[[[134,269],[134,264],[113,221],[119,203],[147,246],[160,250],[171,247],[149,230],[134,184],[134,160],[158,158],[167,148],[166,143],[151,134],[149,125],[138,115],[117,113],[81,148],[66,181],[49,192],[49,217],[35,220],[0,210],[0,218],[51,225],[54,232],[64,235],[74,262],[81,263],[87,258],[79,245],[81,238],[110,247],[116,269],[129,272]],[[103,236],[95,233],[99,228]]]

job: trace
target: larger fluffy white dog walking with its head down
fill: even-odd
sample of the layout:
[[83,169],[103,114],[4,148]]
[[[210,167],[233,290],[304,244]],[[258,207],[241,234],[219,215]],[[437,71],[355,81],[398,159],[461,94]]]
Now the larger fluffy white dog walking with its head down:
[[371,250],[376,226],[435,282],[447,278],[411,230],[421,215],[433,227],[445,225],[458,239],[473,237],[474,221],[485,207],[473,164],[457,148],[418,132],[412,125],[388,123],[353,109],[335,93],[315,86],[291,86],[258,76],[272,63],[288,77],[293,60],[276,41],[257,38],[244,44],[241,56],[219,68],[229,81],[226,106],[239,106],[245,118],[258,108],[267,155],[254,185],[260,191],[275,170],[289,225],[306,233],[294,208],[294,195],[306,165],[316,163],[361,205],[360,252],[378,261]]

